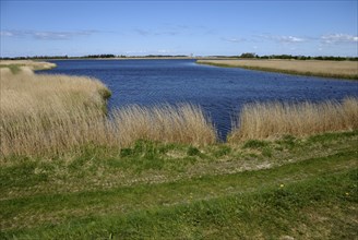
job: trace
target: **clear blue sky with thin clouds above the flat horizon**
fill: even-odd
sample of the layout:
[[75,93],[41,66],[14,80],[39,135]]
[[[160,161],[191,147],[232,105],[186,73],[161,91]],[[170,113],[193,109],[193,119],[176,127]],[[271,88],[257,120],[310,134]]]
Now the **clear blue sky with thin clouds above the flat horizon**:
[[358,56],[358,1],[1,0],[1,57]]

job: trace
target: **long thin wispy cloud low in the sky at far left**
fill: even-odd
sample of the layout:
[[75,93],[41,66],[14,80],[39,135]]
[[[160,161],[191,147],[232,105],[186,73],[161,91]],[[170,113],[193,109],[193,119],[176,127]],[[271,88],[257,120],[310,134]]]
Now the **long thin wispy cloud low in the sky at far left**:
[[55,32],[55,31],[1,31],[1,37],[33,37],[41,40],[68,40],[77,36],[90,36],[98,31],[73,31],[73,32]]

